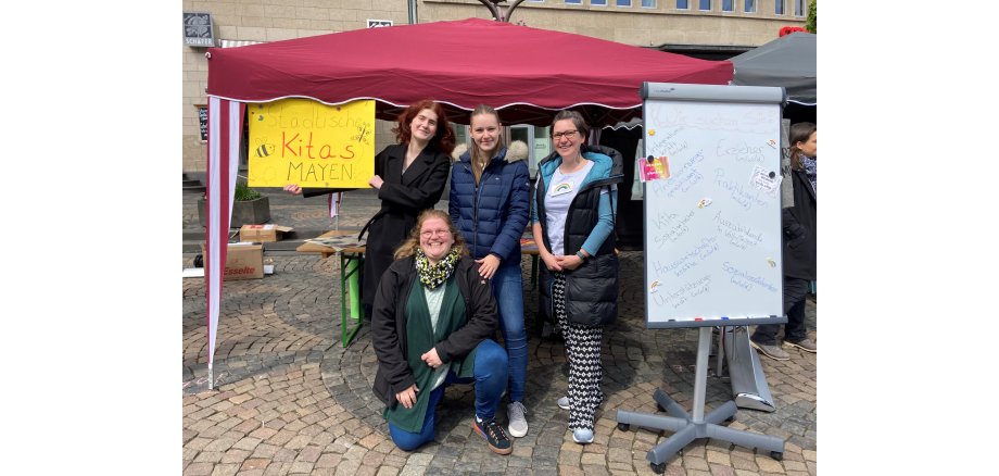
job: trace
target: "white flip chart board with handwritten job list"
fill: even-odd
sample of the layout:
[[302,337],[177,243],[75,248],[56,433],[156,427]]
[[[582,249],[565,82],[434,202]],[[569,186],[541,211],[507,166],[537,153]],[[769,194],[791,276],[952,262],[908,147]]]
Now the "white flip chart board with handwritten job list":
[[[784,89],[645,83],[649,328],[783,323]],[[660,164],[655,165],[656,161]]]

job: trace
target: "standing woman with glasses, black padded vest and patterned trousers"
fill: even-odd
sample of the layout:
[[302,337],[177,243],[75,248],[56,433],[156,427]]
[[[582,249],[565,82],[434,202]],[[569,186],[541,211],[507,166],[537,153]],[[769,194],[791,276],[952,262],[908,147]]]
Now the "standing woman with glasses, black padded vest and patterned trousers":
[[542,308],[555,316],[569,360],[568,396],[572,440],[593,442],[600,390],[604,325],[618,314],[618,256],[615,250],[617,184],[623,181],[621,154],[584,147],[590,126],[574,111],[559,111],[552,124],[555,152],[538,165],[534,241],[541,270]]

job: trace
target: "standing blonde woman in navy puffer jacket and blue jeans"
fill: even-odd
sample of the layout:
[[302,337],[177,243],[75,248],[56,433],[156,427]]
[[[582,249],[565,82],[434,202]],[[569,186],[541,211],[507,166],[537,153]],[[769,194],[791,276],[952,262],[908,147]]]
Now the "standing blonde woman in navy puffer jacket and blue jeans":
[[469,116],[471,146],[458,146],[451,168],[451,220],[465,237],[479,266],[479,276],[492,280],[500,306],[500,329],[509,356],[507,430],[528,434],[523,406],[528,374],[528,335],[523,323],[523,278],[520,238],[528,225],[531,178],[524,159],[528,146],[515,141],[502,147],[500,115],[485,104]]

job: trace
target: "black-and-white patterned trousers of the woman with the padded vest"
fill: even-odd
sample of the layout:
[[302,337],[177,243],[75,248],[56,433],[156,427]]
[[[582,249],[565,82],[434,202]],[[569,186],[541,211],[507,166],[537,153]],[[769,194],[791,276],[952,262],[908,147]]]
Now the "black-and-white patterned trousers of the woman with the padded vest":
[[566,339],[569,359],[569,429],[593,429],[593,414],[604,401],[600,391],[600,339],[604,326],[583,326],[569,322],[566,314],[566,275],[555,272],[552,301],[555,323]]

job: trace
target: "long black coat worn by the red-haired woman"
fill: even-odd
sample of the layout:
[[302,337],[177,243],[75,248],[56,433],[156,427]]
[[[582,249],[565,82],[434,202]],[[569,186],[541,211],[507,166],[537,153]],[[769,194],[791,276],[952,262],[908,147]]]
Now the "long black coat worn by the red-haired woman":
[[378,280],[392,264],[395,248],[402,245],[416,224],[416,216],[441,200],[451,168],[447,155],[428,146],[403,174],[406,147],[389,146],[375,156],[375,174],[384,184],[378,190],[381,210],[365,225],[368,241],[361,296],[368,306],[374,304]]

